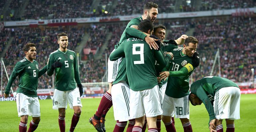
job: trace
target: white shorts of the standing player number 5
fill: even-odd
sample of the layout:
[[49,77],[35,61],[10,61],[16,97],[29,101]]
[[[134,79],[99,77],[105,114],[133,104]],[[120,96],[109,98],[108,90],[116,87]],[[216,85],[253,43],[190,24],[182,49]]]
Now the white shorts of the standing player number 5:
[[78,87],[69,91],[60,91],[58,89],[54,89],[53,94],[53,109],[58,110],[59,108],[67,109],[67,102],[69,104],[70,109],[73,109],[73,106],[81,106],[81,98]]

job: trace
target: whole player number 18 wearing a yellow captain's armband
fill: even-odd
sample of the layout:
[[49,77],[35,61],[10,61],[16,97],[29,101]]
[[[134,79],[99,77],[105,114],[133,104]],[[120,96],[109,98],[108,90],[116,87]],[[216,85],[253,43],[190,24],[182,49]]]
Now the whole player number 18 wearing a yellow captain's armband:
[[160,78],[167,78],[170,75],[170,71],[180,71],[183,67],[186,67],[188,72],[180,75],[179,77],[169,77],[165,96],[163,100],[163,117],[162,120],[165,123],[167,132],[174,131],[174,125],[172,124],[171,117],[175,111],[176,118],[180,118],[184,132],[191,132],[192,126],[189,120],[189,76],[199,63],[195,63],[193,60],[197,60],[199,56],[196,53],[198,41],[196,38],[190,36],[185,39],[183,48],[178,47],[171,50],[174,54],[174,58],[167,66],[164,72],[161,72]]

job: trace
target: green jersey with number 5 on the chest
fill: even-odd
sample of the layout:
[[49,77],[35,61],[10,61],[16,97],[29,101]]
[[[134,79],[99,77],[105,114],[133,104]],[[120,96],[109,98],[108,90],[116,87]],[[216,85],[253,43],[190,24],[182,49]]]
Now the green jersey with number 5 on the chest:
[[[62,62],[62,67],[52,68],[52,64],[56,61]],[[53,75],[55,71],[55,88],[60,91],[68,91],[76,88],[76,84],[80,84],[79,72],[77,67],[77,58],[75,52],[67,50],[62,52],[59,49],[52,52],[49,57],[47,74]]]

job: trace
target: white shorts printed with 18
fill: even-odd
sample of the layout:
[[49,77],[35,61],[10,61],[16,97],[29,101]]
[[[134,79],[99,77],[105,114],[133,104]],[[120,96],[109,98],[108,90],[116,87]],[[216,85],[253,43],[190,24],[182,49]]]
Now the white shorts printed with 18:
[[173,98],[165,94],[163,101],[163,115],[189,119],[189,95],[182,98]]

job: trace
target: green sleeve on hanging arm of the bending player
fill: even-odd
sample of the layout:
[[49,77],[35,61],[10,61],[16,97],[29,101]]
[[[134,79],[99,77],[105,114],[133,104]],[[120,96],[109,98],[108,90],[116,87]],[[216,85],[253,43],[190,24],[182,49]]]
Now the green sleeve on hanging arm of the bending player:
[[195,94],[203,102],[209,114],[209,123],[210,123],[212,119],[215,119],[215,114],[214,114],[213,106],[211,105],[211,101],[209,100],[207,94],[203,90],[202,86],[200,84],[197,84],[196,82],[191,85],[190,89],[191,89],[191,92]]

